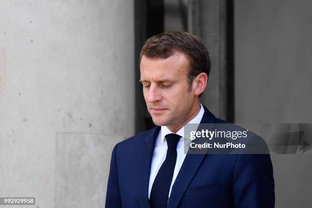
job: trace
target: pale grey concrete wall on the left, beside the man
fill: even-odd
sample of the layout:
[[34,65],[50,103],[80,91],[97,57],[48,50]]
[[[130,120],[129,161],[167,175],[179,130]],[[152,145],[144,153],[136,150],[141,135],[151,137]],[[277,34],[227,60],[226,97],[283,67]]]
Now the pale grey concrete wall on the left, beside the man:
[[134,134],[133,4],[0,2],[0,196],[103,206],[112,147]]

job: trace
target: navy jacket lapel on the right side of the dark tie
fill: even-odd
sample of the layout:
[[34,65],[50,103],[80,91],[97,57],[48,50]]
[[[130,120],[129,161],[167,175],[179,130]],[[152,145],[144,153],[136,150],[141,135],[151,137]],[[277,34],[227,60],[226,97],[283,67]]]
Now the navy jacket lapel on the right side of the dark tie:
[[[210,123],[211,128],[213,128],[215,123],[215,116],[205,107],[204,110],[205,112],[200,123]],[[199,126],[197,131],[200,130],[201,129]],[[191,151],[189,150],[172,186],[170,198],[167,205],[168,208],[175,208],[178,206],[184,192],[188,188],[193,176],[195,175],[197,169],[199,168],[202,160],[206,155],[205,153],[191,154],[190,152]]]

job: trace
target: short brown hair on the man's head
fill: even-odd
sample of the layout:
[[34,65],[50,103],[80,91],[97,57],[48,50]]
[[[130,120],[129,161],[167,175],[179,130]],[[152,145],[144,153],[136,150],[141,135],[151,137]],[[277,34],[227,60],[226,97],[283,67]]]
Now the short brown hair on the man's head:
[[207,48],[203,42],[187,32],[168,31],[148,38],[141,49],[142,56],[148,58],[166,59],[179,51],[190,60],[190,72],[188,75],[189,90],[191,90],[194,78],[204,72],[209,76],[211,62]]

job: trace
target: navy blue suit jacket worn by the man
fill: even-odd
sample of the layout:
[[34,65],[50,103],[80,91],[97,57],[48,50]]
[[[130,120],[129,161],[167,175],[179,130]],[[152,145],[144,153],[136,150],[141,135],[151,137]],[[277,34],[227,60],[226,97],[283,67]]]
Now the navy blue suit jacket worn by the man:
[[[204,110],[201,123],[225,123]],[[150,166],[160,129],[156,126],[114,147],[107,208],[150,207]],[[167,207],[271,208],[274,203],[270,154],[187,154]]]

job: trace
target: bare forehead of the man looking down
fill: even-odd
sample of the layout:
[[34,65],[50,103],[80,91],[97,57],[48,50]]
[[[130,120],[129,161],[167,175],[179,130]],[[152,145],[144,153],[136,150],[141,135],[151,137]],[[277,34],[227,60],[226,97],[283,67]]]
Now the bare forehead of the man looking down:
[[189,71],[189,58],[179,51],[172,56],[162,58],[148,58],[142,56],[140,71],[141,79],[174,79],[185,76]]

